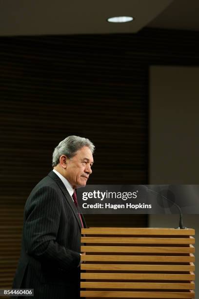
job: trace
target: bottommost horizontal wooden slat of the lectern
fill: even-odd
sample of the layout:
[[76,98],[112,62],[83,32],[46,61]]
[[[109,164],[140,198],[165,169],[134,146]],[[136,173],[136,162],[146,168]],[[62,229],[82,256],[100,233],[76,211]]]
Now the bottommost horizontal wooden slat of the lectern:
[[195,298],[194,292],[131,292],[131,291],[80,291],[80,297],[98,298]]

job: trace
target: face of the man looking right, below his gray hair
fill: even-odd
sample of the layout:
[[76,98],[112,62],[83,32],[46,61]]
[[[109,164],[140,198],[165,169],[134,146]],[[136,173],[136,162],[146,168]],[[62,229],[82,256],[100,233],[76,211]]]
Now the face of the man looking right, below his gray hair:
[[66,160],[65,177],[73,188],[84,187],[92,173],[93,155],[91,150],[84,146],[71,159]]

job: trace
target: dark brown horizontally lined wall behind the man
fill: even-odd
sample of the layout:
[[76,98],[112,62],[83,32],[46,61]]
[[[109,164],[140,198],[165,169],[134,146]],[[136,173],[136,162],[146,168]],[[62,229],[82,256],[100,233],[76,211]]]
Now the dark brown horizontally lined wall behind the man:
[[[147,184],[149,65],[199,65],[198,53],[199,33],[177,30],[0,38],[0,287],[11,286],[24,202],[60,140],[96,145],[89,184]],[[86,219],[147,226],[145,215],[116,216]]]

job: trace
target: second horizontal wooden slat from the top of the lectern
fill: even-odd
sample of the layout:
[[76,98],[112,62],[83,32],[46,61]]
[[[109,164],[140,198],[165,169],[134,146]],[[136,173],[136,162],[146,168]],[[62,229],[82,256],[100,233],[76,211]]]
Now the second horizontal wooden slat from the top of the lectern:
[[194,238],[81,237],[82,243],[194,244]]

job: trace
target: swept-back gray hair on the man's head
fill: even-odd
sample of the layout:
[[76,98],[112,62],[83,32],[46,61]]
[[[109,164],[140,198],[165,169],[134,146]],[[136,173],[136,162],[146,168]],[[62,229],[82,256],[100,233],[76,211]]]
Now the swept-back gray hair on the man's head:
[[66,137],[54,149],[52,166],[55,167],[60,163],[61,155],[66,155],[70,159],[75,156],[77,150],[84,146],[88,147],[94,153],[95,146],[89,139],[75,135]]

